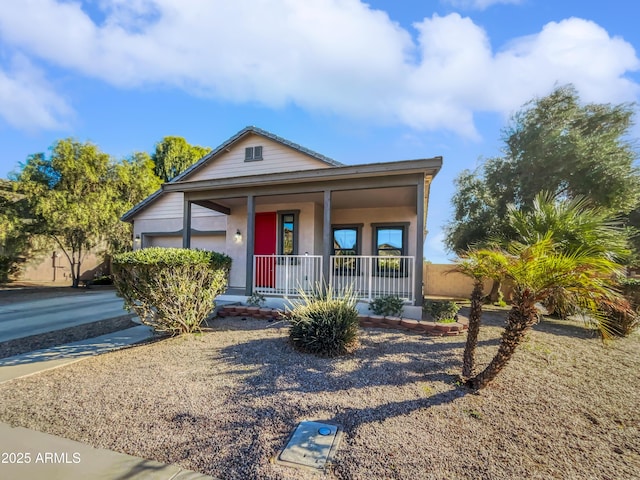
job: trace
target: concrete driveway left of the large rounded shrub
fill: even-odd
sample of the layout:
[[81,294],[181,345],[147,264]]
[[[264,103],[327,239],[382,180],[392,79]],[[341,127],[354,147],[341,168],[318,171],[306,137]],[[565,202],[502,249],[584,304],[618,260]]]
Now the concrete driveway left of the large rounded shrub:
[[0,342],[125,315],[114,291],[29,300],[0,306]]

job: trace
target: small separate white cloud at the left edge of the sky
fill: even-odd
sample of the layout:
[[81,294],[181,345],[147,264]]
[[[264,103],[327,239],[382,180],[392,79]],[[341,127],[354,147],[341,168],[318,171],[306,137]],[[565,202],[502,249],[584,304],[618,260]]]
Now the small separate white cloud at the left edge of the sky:
[[24,57],[13,59],[10,69],[0,67],[0,118],[24,130],[61,129],[72,109]]

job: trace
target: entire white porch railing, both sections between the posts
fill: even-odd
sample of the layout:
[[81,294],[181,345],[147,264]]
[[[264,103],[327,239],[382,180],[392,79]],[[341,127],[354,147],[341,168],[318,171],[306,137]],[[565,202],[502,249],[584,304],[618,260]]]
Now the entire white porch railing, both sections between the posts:
[[[397,295],[415,301],[415,257],[335,255],[330,258],[329,284],[351,286],[359,299]],[[320,255],[254,255],[253,291],[263,295],[296,296],[322,281]]]

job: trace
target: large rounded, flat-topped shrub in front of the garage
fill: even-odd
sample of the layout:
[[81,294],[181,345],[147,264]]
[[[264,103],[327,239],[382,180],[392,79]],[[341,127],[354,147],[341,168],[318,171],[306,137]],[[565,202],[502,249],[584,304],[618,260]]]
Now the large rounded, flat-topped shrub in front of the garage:
[[144,248],[113,257],[113,282],[125,307],[158,332],[200,331],[227,288],[231,258],[182,248]]

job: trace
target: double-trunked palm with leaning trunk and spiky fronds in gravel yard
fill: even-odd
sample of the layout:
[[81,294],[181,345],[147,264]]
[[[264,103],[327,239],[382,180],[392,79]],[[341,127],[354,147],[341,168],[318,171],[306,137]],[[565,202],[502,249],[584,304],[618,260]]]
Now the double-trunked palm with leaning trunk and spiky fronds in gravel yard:
[[[506,222],[512,240],[491,248],[464,253],[458,271],[473,278],[472,323],[480,323],[477,290],[484,279],[502,277],[513,285],[513,307],[507,319],[498,354],[484,372],[469,380],[482,388],[504,368],[526,332],[538,321],[537,305],[589,312],[603,336],[615,333],[612,313],[631,314],[628,302],[617,291],[617,277],[624,271],[627,233],[609,220],[606,210],[585,198],[557,200],[538,194],[530,210],[511,206]],[[473,322],[472,322],[472,318]],[[473,335],[477,335],[474,333]],[[475,338],[475,337],[474,337]],[[475,340],[467,339],[463,375],[472,374]],[[471,365],[471,369],[469,368]]]

